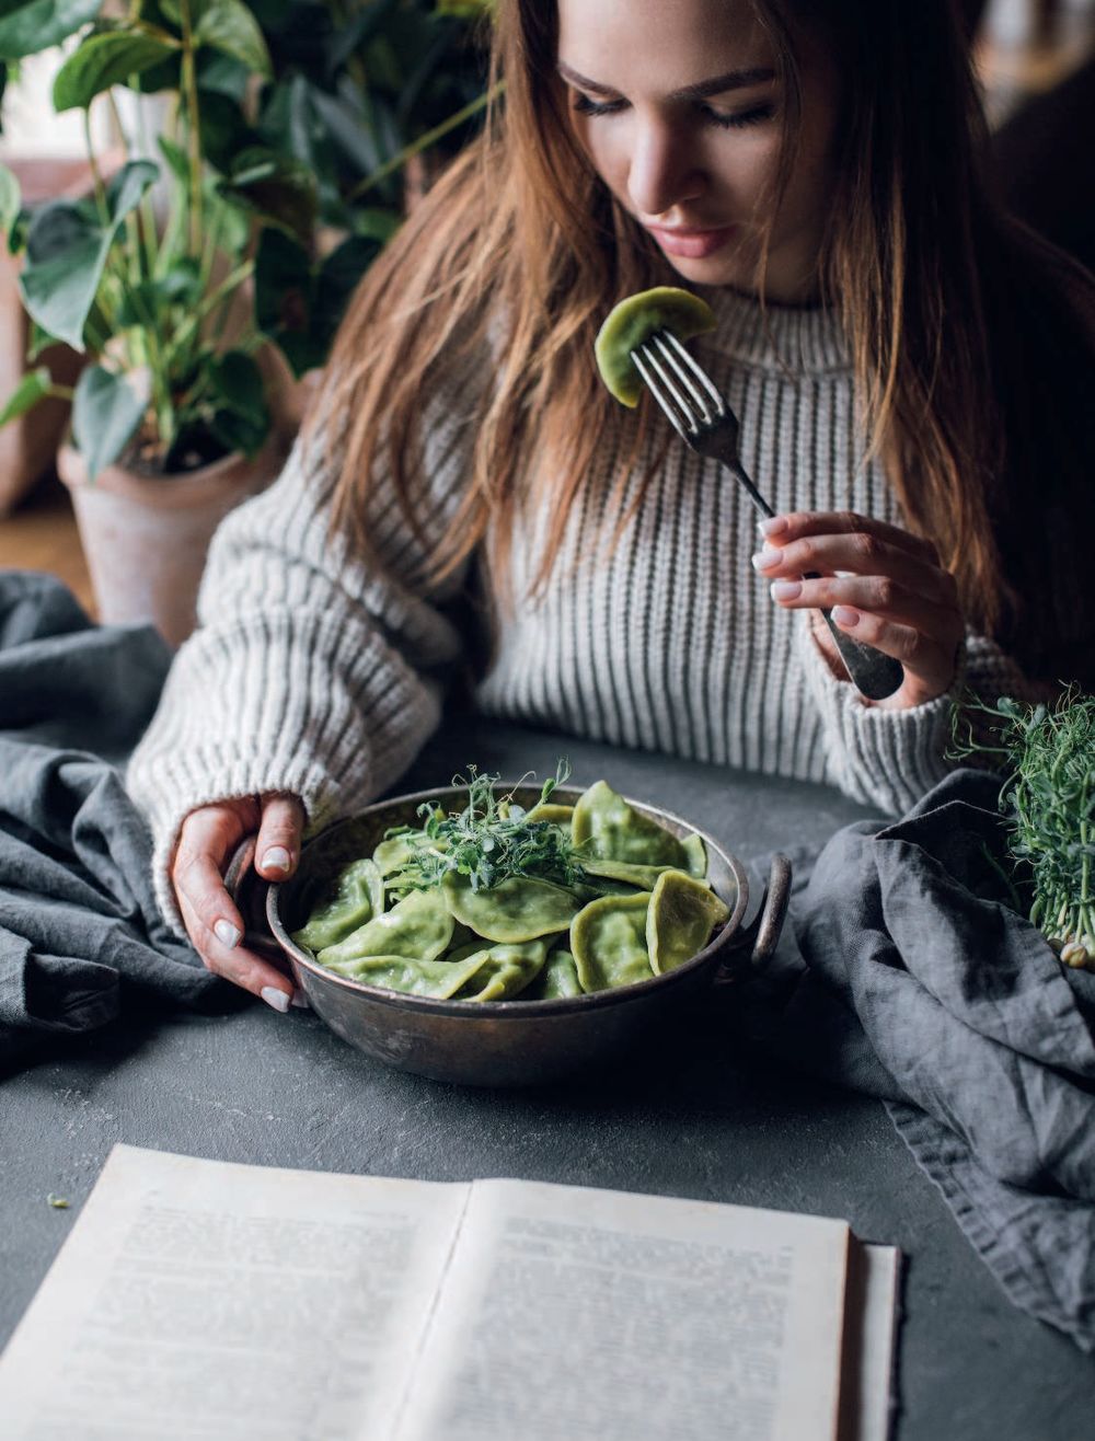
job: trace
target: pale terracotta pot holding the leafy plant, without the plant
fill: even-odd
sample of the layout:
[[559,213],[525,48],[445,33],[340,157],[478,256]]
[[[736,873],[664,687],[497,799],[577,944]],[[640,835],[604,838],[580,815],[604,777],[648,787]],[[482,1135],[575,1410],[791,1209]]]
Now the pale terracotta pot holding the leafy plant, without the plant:
[[58,474],[72,494],[99,620],[148,621],[182,644],[197,624],[197,585],[213,532],[269,484],[282,460],[282,447],[272,442],[254,460],[232,454],[182,476],[110,465],[89,481],[79,451],[62,445]]

